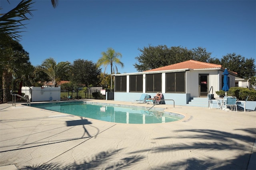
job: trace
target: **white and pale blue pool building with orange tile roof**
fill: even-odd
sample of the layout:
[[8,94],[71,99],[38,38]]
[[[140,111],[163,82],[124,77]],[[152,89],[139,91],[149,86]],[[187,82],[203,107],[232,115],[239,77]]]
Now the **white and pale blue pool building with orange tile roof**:
[[[138,100],[142,93],[155,96],[160,92],[162,99],[174,99],[175,105],[188,105],[195,98],[204,98],[208,105],[208,93],[216,98],[215,91],[223,87],[224,70],[221,65],[189,60],[139,73],[114,74],[114,100]],[[228,86],[235,87],[237,73],[228,73]]]

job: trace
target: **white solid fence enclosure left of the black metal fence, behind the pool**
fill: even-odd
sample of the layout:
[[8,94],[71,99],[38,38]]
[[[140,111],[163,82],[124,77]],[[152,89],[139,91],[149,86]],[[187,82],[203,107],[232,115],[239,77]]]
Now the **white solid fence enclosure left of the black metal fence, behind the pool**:
[[30,101],[60,101],[60,87],[22,87]]

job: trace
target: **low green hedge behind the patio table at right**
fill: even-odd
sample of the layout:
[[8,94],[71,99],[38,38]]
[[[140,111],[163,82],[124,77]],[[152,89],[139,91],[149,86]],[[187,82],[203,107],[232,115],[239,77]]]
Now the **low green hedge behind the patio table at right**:
[[[225,95],[225,91],[215,91],[217,95]],[[243,87],[230,87],[229,91],[227,92],[228,96],[234,96],[239,100],[245,101],[247,96],[247,101],[256,101],[256,91],[249,90]]]

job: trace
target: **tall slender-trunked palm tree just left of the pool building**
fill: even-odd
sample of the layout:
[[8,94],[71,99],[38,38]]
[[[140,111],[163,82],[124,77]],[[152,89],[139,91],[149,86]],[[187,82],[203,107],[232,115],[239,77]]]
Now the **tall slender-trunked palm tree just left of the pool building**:
[[[102,52],[102,57],[100,57],[100,59],[98,59],[97,61],[97,66],[104,66],[104,73],[106,71],[106,68],[108,67],[108,65],[110,65],[110,69],[111,69],[111,90],[112,90],[112,74],[115,73],[115,69],[116,69],[116,73],[118,73],[118,69],[117,69],[117,65],[121,65],[121,67],[124,67],[124,63],[122,63],[120,61],[120,59],[118,57],[122,57],[122,54],[119,52],[115,52],[114,49],[112,48],[108,48],[108,50],[106,52]],[[113,67],[114,66],[114,67]],[[115,68],[115,69],[114,69]]]

